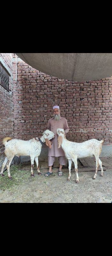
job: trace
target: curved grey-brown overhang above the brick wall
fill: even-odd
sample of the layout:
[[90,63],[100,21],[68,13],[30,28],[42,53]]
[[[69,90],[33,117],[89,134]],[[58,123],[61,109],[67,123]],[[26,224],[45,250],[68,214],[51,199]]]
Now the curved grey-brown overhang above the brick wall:
[[112,53],[16,53],[31,67],[71,81],[112,76]]

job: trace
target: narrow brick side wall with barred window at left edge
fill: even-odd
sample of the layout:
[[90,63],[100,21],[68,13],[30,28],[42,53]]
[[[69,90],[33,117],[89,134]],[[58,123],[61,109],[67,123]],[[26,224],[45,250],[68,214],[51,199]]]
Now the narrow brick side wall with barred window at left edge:
[[11,53],[0,53],[0,59],[11,71],[9,78],[10,92],[0,85],[0,167],[4,161],[4,145],[2,139],[6,136],[13,138],[13,98],[12,98],[12,56]]

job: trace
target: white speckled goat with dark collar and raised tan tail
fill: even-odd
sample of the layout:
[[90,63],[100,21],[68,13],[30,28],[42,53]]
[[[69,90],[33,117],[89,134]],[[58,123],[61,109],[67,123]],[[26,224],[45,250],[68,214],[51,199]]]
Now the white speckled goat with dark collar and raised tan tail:
[[46,142],[46,145],[51,148],[51,143],[49,140],[55,137],[54,132],[51,132],[49,130],[46,130],[42,133],[42,136],[40,139],[33,138],[31,140],[19,140],[19,139],[11,139],[10,137],[6,137],[3,139],[3,144],[5,146],[5,160],[2,165],[2,170],[0,172],[1,176],[4,176],[4,167],[7,166],[7,172],[8,177],[11,179],[10,175],[10,164],[12,162],[12,159],[14,156],[30,156],[31,159],[31,176],[34,177],[33,168],[34,168],[34,160],[37,165],[37,172],[39,175],[41,175],[41,172],[39,170],[38,166],[38,156],[40,156],[41,153],[41,147],[44,142]]

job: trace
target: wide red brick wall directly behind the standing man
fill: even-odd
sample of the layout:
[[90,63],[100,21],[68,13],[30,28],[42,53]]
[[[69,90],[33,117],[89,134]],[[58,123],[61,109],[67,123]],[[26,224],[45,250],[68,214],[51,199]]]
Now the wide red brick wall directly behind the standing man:
[[[14,56],[13,56],[14,57]],[[20,60],[20,59],[19,59]],[[59,105],[76,142],[105,138],[112,143],[112,77],[100,81],[75,82],[49,76],[23,61],[13,59],[14,137],[28,140],[40,135]]]

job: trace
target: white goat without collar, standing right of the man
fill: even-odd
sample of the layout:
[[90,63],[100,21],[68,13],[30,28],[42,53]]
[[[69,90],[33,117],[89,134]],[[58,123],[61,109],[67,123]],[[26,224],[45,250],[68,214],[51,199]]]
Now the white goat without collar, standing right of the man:
[[95,156],[95,160],[96,160],[96,171],[95,171],[93,180],[96,179],[99,165],[101,167],[101,176],[103,177],[102,162],[99,159],[99,156],[100,156],[101,150],[102,150],[102,143],[104,142],[105,139],[103,139],[101,141],[92,139],[92,140],[87,140],[85,142],[76,143],[76,142],[72,142],[72,141],[69,141],[66,139],[65,132],[63,129],[58,128],[56,133],[58,134],[58,148],[60,148],[60,147],[63,148],[64,154],[69,161],[69,177],[67,179],[68,181],[70,180],[70,177],[71,177],[72,161],[75,165],[75,172],[77,175],[76,183],[78,183],[79,178],[78,178],[77,158],[83,158],[83,157],[88,157],[88,156]]

